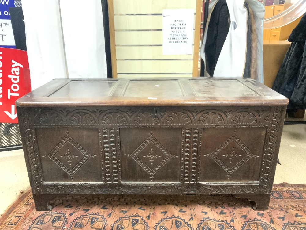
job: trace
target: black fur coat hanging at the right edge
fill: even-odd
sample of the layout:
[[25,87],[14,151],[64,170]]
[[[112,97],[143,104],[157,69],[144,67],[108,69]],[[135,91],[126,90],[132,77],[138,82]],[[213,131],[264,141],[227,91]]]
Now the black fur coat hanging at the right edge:
[[306,109],[306,14],[289,36],[292,41],[272,89],[289,98],[287,110]]

